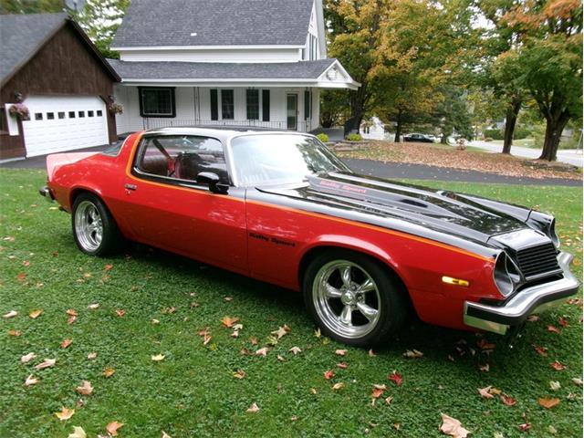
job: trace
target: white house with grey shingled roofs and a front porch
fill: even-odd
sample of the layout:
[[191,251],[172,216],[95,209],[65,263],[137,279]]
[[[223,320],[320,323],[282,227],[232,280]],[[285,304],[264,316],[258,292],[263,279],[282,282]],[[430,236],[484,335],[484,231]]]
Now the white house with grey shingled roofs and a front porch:
[[118,132],[318,128],[320,89],[360,84],[327,58],[322,0],[133,0],[111,48]]

